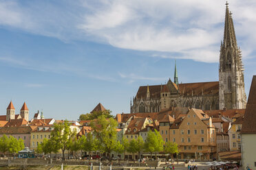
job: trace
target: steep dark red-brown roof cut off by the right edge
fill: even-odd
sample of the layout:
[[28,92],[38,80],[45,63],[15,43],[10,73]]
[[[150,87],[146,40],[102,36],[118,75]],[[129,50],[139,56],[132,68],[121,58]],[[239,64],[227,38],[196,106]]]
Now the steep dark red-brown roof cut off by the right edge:
[[241,134],[256,134],[256,75],[250,85],[250,93],[244,114]]

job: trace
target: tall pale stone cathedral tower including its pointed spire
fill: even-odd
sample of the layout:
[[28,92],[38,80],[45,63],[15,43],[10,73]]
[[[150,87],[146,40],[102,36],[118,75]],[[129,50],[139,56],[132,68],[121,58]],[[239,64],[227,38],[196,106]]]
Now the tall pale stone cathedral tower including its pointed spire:
[[226,3],[224,39],[220,45],[219,100],[220,109],[246,108],[242,51],[237,47],[231,12]]

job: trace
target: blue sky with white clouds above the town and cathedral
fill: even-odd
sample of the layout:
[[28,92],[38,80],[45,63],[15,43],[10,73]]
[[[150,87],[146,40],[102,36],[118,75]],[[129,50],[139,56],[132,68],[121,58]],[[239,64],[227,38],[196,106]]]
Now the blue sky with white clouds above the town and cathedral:
[[[139,86],[218,81],[223,0],[0,0],[0,114],[77,120],[100,102],[129,112]],[[256,75],[256,1],[232,0],[246,94]]]

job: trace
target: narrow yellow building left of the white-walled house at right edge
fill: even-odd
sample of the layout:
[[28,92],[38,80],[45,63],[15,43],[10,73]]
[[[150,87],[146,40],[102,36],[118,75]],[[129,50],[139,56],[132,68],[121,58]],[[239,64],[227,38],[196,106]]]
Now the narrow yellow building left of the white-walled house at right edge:
[[229,137],[229,147],[231,151],[240,151],[241,150],[241,134],[244,117],[238,117],[234,119],[231,128],[228,130]]

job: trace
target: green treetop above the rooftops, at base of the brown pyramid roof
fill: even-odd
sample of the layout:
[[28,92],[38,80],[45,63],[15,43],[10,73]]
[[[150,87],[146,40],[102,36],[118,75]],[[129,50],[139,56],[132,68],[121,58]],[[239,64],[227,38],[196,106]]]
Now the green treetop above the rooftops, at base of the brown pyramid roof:
[[86,114],[81,114],[79,116],[78,121],[87,121],[87,120],[94,120],[98,119],[98,117],[104,115],[105,118],[114,118],[113,115],[111,115],[110,110],[104,110],[104,111],[98,111],[98,112],[91,112]]

